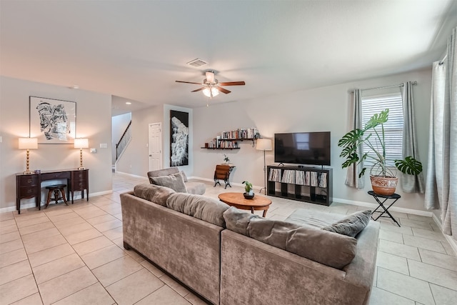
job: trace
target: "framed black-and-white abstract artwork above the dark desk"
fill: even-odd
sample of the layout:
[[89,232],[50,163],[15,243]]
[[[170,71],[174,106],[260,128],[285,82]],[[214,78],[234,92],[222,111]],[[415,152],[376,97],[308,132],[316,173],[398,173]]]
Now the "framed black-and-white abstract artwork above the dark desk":
[[30,96],[29,136],[39,144],[74,144],[76,102]]

